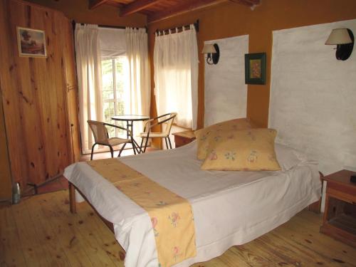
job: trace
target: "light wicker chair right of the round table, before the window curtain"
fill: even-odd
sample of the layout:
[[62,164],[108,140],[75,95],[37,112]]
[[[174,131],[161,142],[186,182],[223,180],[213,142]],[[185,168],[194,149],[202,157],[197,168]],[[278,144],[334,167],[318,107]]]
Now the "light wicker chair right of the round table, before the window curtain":
[[[147,122],[145,123],[144,132],[141,132],[139,135],[142,138],[141,151],[146,152],[148,139],[151,137],[164,138],[164,141],[166,142],[166,147],[168,148],[168,143],[169,143],[169,148],[172,149],[171,140],[169,140],[169,133],[171,132],[172,124],[173,124],[174,118],[176,116],[177,116],[177,113],[172,112],[172,113],[160,115],[160,116],[155,117],[151,120],[147,120]],[[164,122],[167,122],[167,126],[164,129],[164,131],[151,132],[152,127],[155,127],[156,125],[162,125],[162,123],[164,123]],[[143,145],[144,140],[146,140],[145,148],[142,150],[142,145]],[[168,140],[168,142],[167,142],[167,140]]]

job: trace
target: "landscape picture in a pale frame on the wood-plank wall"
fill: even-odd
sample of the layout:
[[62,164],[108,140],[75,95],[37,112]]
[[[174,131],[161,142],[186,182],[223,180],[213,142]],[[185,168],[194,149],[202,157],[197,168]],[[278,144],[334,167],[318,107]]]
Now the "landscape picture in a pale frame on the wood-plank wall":
[[19,56],[46,58],[46,34],[33,28],[17,27],[17,46]]

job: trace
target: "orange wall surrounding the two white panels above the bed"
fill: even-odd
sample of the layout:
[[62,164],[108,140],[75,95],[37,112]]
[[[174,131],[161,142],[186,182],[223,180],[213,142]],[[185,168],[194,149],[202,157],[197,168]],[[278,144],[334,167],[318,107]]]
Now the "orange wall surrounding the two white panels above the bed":
[[[170,19],[149,24],[150,56],[153,58],[154,32],[192,23],[199,19],[199,114],[198,125],[204,125],[204,41],[249,35],[249,53],[267,53],[266,85],[248,85],[247,116],[261,127],[268,125],[271,81],[272,31],[283,28],[356,19],[355,0],[262,0],[251,11],[246,6],[226,1]],[[333,53],[330,53],[333,56]],[[152,60],[151,60],[152,61]],[[153,66],[152,66],[153,67]],[[152,88],[153,88],[152,68]],[[153,107],[155,109],[155,105]]]

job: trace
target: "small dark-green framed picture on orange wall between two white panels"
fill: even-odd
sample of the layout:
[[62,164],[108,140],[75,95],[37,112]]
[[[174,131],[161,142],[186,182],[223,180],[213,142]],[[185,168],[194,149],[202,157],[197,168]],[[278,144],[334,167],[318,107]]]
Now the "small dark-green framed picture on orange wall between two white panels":
[[245,54],[245,83],[266,84],[266,53]]

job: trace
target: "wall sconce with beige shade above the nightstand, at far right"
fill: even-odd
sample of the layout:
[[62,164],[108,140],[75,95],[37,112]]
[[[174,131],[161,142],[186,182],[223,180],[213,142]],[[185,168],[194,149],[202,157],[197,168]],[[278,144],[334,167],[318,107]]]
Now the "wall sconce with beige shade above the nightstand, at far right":
[[338,61],[346,61],[354,48],[354,35],[350,28],[334,28],[325,45],[337,45],[335,56]]

